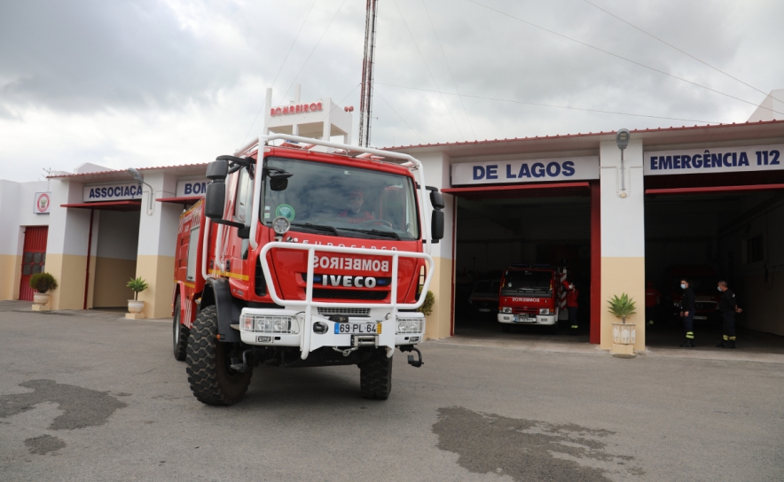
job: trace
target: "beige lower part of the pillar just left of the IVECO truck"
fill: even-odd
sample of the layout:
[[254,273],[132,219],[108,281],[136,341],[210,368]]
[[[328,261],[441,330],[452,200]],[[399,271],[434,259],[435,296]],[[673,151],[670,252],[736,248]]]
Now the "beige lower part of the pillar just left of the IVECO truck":
[[171,293],[174,289],[174,256],[140,255],[137,259],[136,276],[141,276],[150,285],[139,293],[145,301],[147,318],[171,316]]

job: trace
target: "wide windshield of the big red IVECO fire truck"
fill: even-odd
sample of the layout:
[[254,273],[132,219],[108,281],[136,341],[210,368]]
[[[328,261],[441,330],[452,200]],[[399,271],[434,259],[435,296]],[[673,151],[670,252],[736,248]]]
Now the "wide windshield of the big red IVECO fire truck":
[[261,221],[286,217],[291,230],[371,239],[419,238],[412,179],[371,169],[270,157],[266,167],[291,173],[286,188],[263,184]]

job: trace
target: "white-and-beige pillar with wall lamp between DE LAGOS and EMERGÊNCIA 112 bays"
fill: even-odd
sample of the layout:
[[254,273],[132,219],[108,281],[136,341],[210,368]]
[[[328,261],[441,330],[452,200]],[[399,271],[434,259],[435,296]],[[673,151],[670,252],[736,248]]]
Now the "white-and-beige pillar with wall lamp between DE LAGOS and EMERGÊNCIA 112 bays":
[[[637,325],[635,350],[645,349],[645,190],[642,141],[631,140],[623,152],[615,141],[600,144],[601,225],[601,332],[600,348],[612,349],[612,323],[620,318],[608,312],[608,299],[621,293],[637,303],[637,315],[626,323]],[[621,189],[622,176],[624,190]]]

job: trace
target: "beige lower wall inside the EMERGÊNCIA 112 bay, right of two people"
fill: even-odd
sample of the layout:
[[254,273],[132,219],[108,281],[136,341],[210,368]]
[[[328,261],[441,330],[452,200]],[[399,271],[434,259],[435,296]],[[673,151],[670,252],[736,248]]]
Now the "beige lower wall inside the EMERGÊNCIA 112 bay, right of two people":
[[746,276],[743,281],[745,299],[738,299],[738,305],[743,308],[744,326],[784,336],[784,276],[775,273],[767,283],[762,274]]

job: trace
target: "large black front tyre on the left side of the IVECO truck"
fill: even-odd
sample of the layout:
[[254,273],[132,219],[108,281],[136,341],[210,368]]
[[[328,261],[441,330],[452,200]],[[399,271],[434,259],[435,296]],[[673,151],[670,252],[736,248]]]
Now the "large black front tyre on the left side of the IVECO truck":
[[233,405],[247,392],[253,368],[245,373],[231,369],[231,344],[218,341],[217,331],[216,307],[202,309],[188,338],[188,382],[201,403]]

